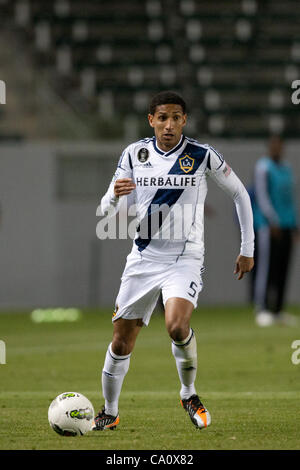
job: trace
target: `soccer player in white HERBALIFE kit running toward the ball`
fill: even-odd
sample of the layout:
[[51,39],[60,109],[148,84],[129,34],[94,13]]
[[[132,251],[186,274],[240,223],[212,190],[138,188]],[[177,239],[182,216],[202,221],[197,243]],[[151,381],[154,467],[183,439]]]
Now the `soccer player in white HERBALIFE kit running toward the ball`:
[[[253,267],[254,231],[249,195],[239,178],[211,146],[182,133],[186,104],[173,92],[161,92],[148,114],[155,136],[129,145],[101,200],[102,214],[118,211],[122,198],[135,194],[139,224],[127,257],[113,315],[113,338],[102,371],[105,405],[94,430],[119,423],[118,400],[138,333],[148,325],[162,293],[165,324],[181,383],[180,401],[197,428],[211,417],[195,389],[197,344],[190,326],[203,272],[203,209],[206,177],[211,177],[236,206],[241,248],[235,274]],[[183,226],[182,231],[179,229]]]

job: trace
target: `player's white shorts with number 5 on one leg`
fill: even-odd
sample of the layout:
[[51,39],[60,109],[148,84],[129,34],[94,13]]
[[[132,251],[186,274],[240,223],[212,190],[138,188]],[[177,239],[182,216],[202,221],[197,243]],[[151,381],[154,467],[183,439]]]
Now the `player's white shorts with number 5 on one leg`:
[[196,308],[203,285],[202,271],[200,261],[192,258],[157,263],[129,256],[112,320],[120,317],[142,319],[148,325],[160,293],[164,305],[171,297],[180,297],[192,302]]

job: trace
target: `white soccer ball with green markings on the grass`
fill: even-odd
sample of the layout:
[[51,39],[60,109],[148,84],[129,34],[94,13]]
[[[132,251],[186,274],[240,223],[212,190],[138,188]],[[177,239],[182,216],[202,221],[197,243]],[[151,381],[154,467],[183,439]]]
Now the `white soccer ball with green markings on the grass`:
[[76,392],[61,393],[48,410],[49,424],[61,436],[83,436],[91,431],[94,416],[91,402]]

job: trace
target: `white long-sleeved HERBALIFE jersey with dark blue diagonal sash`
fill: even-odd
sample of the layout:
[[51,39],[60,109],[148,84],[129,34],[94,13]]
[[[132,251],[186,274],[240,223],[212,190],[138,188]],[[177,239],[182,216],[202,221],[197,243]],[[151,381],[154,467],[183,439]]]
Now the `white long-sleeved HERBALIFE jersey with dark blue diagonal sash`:
[[132,178],[138,221],[132,256],[153,261],[182,256],[203,263],[207,176],[232,197],[241,228],[240,253],[252,257],[253,216],[244,185],[215,149],[183,135],[168,152],[158,148],[155,137],[129,145],[101,200],[101,213],[118,211],[127,196],[114,195],[115,181]]

